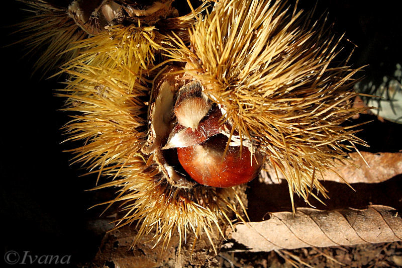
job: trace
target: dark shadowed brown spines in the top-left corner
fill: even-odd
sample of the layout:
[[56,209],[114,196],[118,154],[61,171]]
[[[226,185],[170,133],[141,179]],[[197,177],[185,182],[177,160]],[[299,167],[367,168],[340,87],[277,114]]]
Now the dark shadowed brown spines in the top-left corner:
[[[32,16],[16,25],[19,30],[14,33],[25,36],[16,43],[26,45],[26,57],[34,54],[39,56],[33,65],[32,73],[40,72],[43,78],[61,64],[75,58],[79,50],[71,50],[71,43],[82,40],[88,35],[68,17],[65,7],[43,0],[20,2],[27,6],[26,10],[32,13]],[[66,50],[69,52],[59,55]],[[41,52],[40,55],[38,51]]]

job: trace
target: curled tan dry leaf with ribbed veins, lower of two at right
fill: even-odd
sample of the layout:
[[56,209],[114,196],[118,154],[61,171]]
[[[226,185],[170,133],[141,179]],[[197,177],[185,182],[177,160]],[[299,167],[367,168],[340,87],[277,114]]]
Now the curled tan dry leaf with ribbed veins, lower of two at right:
[[[299,208],[270,214],[262,222],[239,223],[225,244],[230,251],[270,251],[300,247],[325,247],[401,241],[402,219],[391,207],[322,211]],[[243,249],[236,249],[242,245]]]

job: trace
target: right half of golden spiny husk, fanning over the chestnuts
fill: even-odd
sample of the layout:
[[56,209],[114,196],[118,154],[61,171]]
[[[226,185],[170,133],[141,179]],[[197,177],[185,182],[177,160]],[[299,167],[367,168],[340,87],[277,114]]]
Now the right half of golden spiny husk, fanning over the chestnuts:
[[352,76],[359,70],[336,62],[341,38],[325,24],[281,1],[221,0],[190,30],[190,50],[177,37],[171,58],[187,70],[225,112],[241,139],[264,152],[281,171],[289,192],[307,202],[312,188],[326,197],[318,178],[334,158],[365,144],[342,124],[363,109]]

